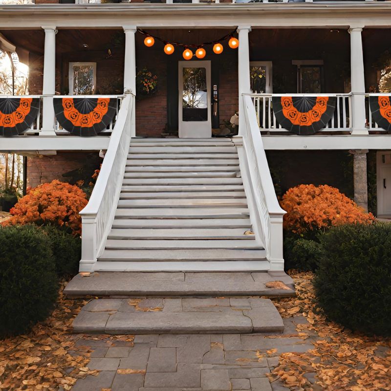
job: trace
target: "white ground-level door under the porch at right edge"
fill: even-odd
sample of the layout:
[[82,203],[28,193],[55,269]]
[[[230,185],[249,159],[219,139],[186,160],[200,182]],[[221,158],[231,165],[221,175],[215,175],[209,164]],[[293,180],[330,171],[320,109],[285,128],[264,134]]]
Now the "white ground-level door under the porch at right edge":
[[377,214],[391,216],[391,152],[377,152]]

